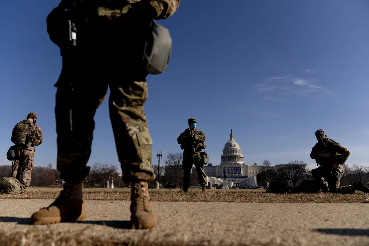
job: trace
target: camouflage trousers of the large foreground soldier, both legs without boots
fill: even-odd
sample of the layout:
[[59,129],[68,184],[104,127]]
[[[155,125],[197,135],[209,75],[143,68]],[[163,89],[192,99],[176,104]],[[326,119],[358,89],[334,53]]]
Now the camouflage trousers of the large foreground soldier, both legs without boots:
[[[91,154],[94,115],[106,98],[109,86],[110,121],[123,180],[129,182],[132,177],[155,180],[151,165],[152,140],[144,112],[148,96],[145,76],[125,74],[121,67],[110,65],[92,65],[77,75],[62,73],[55,84],[58,88],[55,102],[57,169],[62,179],[78,182],[88,175],[90,169],[86,165]],[[74,91],[70,90],[69,82],[75,83]]]

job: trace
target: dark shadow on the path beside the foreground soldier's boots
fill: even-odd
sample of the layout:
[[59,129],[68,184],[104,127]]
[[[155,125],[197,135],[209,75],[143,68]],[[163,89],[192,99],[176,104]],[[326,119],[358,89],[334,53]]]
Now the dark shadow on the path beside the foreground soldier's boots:
[[[0,217],[1,222],[16,222],[18,225],[31,225],[30,218],[19,218],[19,217]],[[68,222],[64,222],[68,223]],[[73,223],[78,224],[91,224],[91,225],[102,225],[109,226],[117,229],[132,229],[131,221],[75,221]]]

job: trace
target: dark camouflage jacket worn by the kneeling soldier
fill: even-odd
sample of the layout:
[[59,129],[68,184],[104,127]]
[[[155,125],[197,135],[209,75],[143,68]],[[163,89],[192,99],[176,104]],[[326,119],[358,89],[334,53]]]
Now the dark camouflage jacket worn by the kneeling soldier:
[[[323,143],[317,142],[311,149],[311,159],[315,159],[316,163],[324,167],[330,167],[334,163],[344,164],[350,155],[350,151],[332,139],[326,138],[323,141],[327,145],[327,148],[324,147]],[[321,153],[330,153],[332,156],[319,156]]]

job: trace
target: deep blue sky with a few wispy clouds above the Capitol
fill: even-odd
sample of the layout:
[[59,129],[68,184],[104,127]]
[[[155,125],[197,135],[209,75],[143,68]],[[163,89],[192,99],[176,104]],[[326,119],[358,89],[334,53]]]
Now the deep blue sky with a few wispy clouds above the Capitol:
[[[0,10],[0,164],[10,164],[14,125],[35,111],[44,134],[35,165],[56,166],[53,85],[61,57],[46,16],[58,3],[6,1]],[[351,151],[347,163],[369,165],[368,12],[359,0],[182,0],[159,21],[173,39],[168,69],[147,78],[153,164],[156,149],[163,157],[182,151],[176,139],[196,118],[213,164],[232,128],[246,164],[303,160],[314,167],[314,131],[324,129]],[[88,165],[119,166],[107,100],[95,121]]]

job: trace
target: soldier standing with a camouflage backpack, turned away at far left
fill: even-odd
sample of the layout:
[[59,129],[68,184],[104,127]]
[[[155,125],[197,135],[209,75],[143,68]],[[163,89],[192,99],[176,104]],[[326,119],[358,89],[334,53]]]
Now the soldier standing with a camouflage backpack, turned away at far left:
[[24,189],[31,183],[35,146],[40,145],[44,139],[36,120],[37,114],[30,112],[27,119],[14,126],[11,133],[11,142],[16,146],[16,157],[11,163],[11,177],[19,180]]

